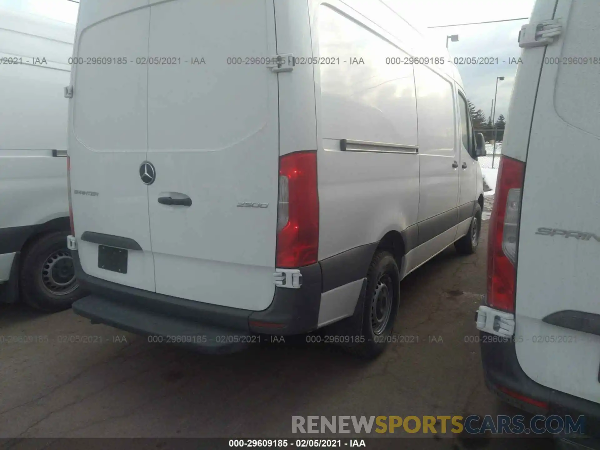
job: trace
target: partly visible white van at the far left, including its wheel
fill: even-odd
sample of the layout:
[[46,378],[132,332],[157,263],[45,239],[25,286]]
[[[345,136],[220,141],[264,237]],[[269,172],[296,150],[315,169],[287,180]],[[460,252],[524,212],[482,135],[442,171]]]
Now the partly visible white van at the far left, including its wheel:
[[74,25],[0,10],[0,302],[48,311],[82,292],[65,244],[74,35]]

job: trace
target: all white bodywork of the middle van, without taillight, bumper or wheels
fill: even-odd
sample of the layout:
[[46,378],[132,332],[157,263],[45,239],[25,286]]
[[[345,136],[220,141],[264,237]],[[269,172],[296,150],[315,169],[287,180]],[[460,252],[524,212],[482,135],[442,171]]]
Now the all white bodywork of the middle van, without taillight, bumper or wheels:
[[[456,219],[437,234],[439,225],[430,226],[419,242],[418,223],[444,213],[458,218],[461,175],[452,162],[460,159],[460,77],[447,62],[422,68],[444,86],[431,94],[415,86],[412,64],[386,64],[388,56],[448,55],[382,2],[89,0],[77,26],[76,54],[84,53],[206,61],[74,69],[71,188],[98,193],[73,196],[86,275],[266,310],[276,292],[278,158],[296,151],[317,151],[319,261],[410,230],[410,264],[418,266],[457,237]],[[278,74],[227,62],[275,55],[299,62]],[[442,113],[434,107],[440,98]],[[436,128],[440,136],[430,136]],[[443,164],[419,173],[437,154]],[[156,170],[147,186],[143,161]],[[189,197],[191,205],[164,205],[160,197]],[[466,201],[475,200],[473,193]],[[237,207],[242,202],[268,206]],[[83,232],[134,239],[142,250],[129,251],[127,274],[109,272],[98,268],[98,244],[82,242]],[[352,315],[364,277],[319,292],[315,325]]]

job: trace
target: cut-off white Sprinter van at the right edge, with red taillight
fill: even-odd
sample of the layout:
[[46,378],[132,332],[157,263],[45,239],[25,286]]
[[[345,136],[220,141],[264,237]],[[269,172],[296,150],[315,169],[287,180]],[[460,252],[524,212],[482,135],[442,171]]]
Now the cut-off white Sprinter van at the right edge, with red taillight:
[[538,0],[521,31],[477,314],[490,389],[542,415],[583,415],[596,437],[599,24],[597,0]]

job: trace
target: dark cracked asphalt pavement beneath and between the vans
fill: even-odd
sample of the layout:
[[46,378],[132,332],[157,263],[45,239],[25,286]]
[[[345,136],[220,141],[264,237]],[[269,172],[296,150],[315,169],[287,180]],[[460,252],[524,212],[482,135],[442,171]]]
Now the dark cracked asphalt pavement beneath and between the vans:
[[[448,248],[403,280],[394,334],[404,338],[372,362],[304,336],[202,355],[70,310],[0,306],[0,336],[30,337],[0,338],[0,437],[299,437],[292,416],[520,414],[485,388],[476,342],[487,225],[476,254]],[[415,436],[386,437],[402,439],[394,448],[506,448],[489,434]]]

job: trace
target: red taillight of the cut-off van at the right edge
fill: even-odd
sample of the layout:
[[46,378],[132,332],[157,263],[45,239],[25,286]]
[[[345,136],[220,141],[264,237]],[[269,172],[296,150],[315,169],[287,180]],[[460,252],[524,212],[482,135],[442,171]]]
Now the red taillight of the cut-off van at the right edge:
[[500,157],[488,232],[487,303],[514,313],[517,236],[525,163]]

